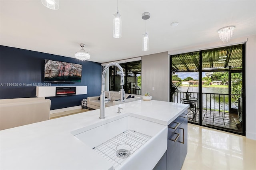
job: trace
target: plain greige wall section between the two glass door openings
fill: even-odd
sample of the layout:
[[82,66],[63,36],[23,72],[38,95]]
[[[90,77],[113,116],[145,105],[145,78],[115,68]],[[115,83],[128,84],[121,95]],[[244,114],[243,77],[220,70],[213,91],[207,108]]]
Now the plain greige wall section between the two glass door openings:
[[142,95],[148,91],[152,100],[169,101],[169,65],[167,51],[141,57]]

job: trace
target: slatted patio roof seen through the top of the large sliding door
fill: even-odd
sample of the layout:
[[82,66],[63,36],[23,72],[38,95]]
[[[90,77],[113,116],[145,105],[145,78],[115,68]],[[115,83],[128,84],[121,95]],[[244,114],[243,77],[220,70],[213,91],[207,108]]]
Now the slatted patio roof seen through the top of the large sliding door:
[[216,49],[171,55],[172,71],[198,71],[199,57],[202,53],[202,70],[242,69],[242,44]]

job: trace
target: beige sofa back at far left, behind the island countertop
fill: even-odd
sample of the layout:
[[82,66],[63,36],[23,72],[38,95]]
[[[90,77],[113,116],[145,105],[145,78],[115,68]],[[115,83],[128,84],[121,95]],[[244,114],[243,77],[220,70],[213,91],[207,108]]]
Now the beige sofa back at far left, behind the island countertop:
[[0,130],[49,120],[50,107],[44,97],[0,99]]

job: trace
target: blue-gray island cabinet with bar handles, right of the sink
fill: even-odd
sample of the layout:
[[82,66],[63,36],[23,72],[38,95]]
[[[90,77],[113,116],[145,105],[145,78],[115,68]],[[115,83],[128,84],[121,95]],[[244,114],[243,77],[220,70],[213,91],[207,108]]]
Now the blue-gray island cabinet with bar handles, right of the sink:
[[180,170],[188,152],[188,115],[182,113],[168,125],[167,150],[154,170]]

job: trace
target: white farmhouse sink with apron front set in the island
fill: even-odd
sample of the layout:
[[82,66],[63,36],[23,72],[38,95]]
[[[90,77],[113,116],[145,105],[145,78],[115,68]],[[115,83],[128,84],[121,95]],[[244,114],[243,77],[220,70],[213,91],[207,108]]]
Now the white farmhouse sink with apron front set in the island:
[[[101,122],[101,125],[95,124],[71,133],[92,149],[94,148],[95,152],[98,152],[111,162],[115,169],[152,169],[167,149],[167,126],[132,116],[117,118],[112,122],[106,120],[105,122],[103,125]],[[128,134],[125,132],[127,130],[130,130]],[[135,134],[130,134],[130,132]],[[119,140],[120,135],[124,136],[125,139]],[[131,137],[132,135],[133,137]],[[144,138],[147,141],[144,141]],[[120,142],[121,140],[122,142]],[[144,144],[139,144],[141,140],[144,141]],[[107,143],[116,142],[122,144],[127,143],[127,141],[134,149],[128,158],[118,158],[115,154],[116,150],[114,150],[116,146],[98,151],[98,148],[102,147],[102,145],[108,145]],[[111,151],[114,154],[108,155],[108,152]]]

